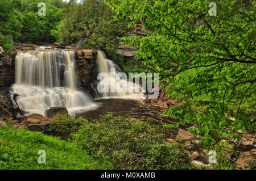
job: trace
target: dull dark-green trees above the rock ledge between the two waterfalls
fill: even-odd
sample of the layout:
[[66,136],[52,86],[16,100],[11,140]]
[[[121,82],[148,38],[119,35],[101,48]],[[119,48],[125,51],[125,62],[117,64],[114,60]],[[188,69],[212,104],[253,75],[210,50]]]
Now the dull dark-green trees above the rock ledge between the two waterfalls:
[[65,44],[77,43],[81,39],[85,48],[100,48],[116,58],[118,37],[125,32],[127,24],[114,20],[113,15],[103,0],[71,1],[59,31],[52,31],[52,35]]

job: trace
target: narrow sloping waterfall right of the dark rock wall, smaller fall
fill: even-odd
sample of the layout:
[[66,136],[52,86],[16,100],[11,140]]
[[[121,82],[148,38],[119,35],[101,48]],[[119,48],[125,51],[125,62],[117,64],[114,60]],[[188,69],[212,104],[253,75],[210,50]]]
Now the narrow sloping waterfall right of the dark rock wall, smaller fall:
[[127,81],[125,73],[113,61],[108,60],[105,53],[101,50],[98,50],[97,64],[98,73],[105,74],[104,79],[98,82],[98,87],[108,90],[101,93],[101,98],[144,100],[145,96],[142,93],[142,87],[136,83]]

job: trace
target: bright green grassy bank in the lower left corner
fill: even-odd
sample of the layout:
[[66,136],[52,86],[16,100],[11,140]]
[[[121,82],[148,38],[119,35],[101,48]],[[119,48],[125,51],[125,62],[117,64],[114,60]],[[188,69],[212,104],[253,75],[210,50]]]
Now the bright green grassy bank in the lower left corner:
[[[39,150],[46,151],[46,164],[38,163]],[[60,138],[26,129],[0,127],[1,169],[113,169],[108,162],[96,161],[77,145]]]

